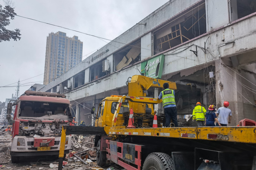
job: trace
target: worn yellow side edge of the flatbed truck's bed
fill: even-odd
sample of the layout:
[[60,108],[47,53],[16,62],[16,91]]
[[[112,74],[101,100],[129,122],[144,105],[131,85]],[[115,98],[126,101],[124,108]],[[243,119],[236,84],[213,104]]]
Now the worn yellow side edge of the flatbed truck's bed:
[[201,139],[256,144],[255,126],[228,127],[158,127],[118,129],[106,128],[109,135],[154,136],[182,139]]

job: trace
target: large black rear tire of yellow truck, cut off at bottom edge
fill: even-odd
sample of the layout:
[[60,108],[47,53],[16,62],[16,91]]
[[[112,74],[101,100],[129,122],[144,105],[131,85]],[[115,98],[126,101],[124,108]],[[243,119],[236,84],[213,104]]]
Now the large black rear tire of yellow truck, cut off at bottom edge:
[[146,157],[142,170],[175,170],[173,158],[166,153],[151,153]]

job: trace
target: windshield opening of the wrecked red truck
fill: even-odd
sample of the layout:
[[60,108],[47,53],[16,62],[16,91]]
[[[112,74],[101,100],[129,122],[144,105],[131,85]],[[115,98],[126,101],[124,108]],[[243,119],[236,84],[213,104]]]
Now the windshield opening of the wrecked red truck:
[[67,103],[49,103],[42,101],[21,101],[19,117],[42,117],[65,115]]

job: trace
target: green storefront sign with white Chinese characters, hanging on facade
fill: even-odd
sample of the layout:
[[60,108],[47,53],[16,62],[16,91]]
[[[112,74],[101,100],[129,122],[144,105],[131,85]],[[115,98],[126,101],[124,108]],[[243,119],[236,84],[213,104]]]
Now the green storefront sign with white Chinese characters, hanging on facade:
[[154,79],[162,77],[162,71],[164,66],[164,54],[154,57],[150,60],[141,63],[141,73],[144,76],[151,77]]

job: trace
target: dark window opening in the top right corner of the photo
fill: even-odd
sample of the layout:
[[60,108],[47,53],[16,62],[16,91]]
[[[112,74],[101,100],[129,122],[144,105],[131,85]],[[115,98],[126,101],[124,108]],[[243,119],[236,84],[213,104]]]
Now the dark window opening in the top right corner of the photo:
[[231,19],[235,21],[256,12],[256,0],[231,0]]

